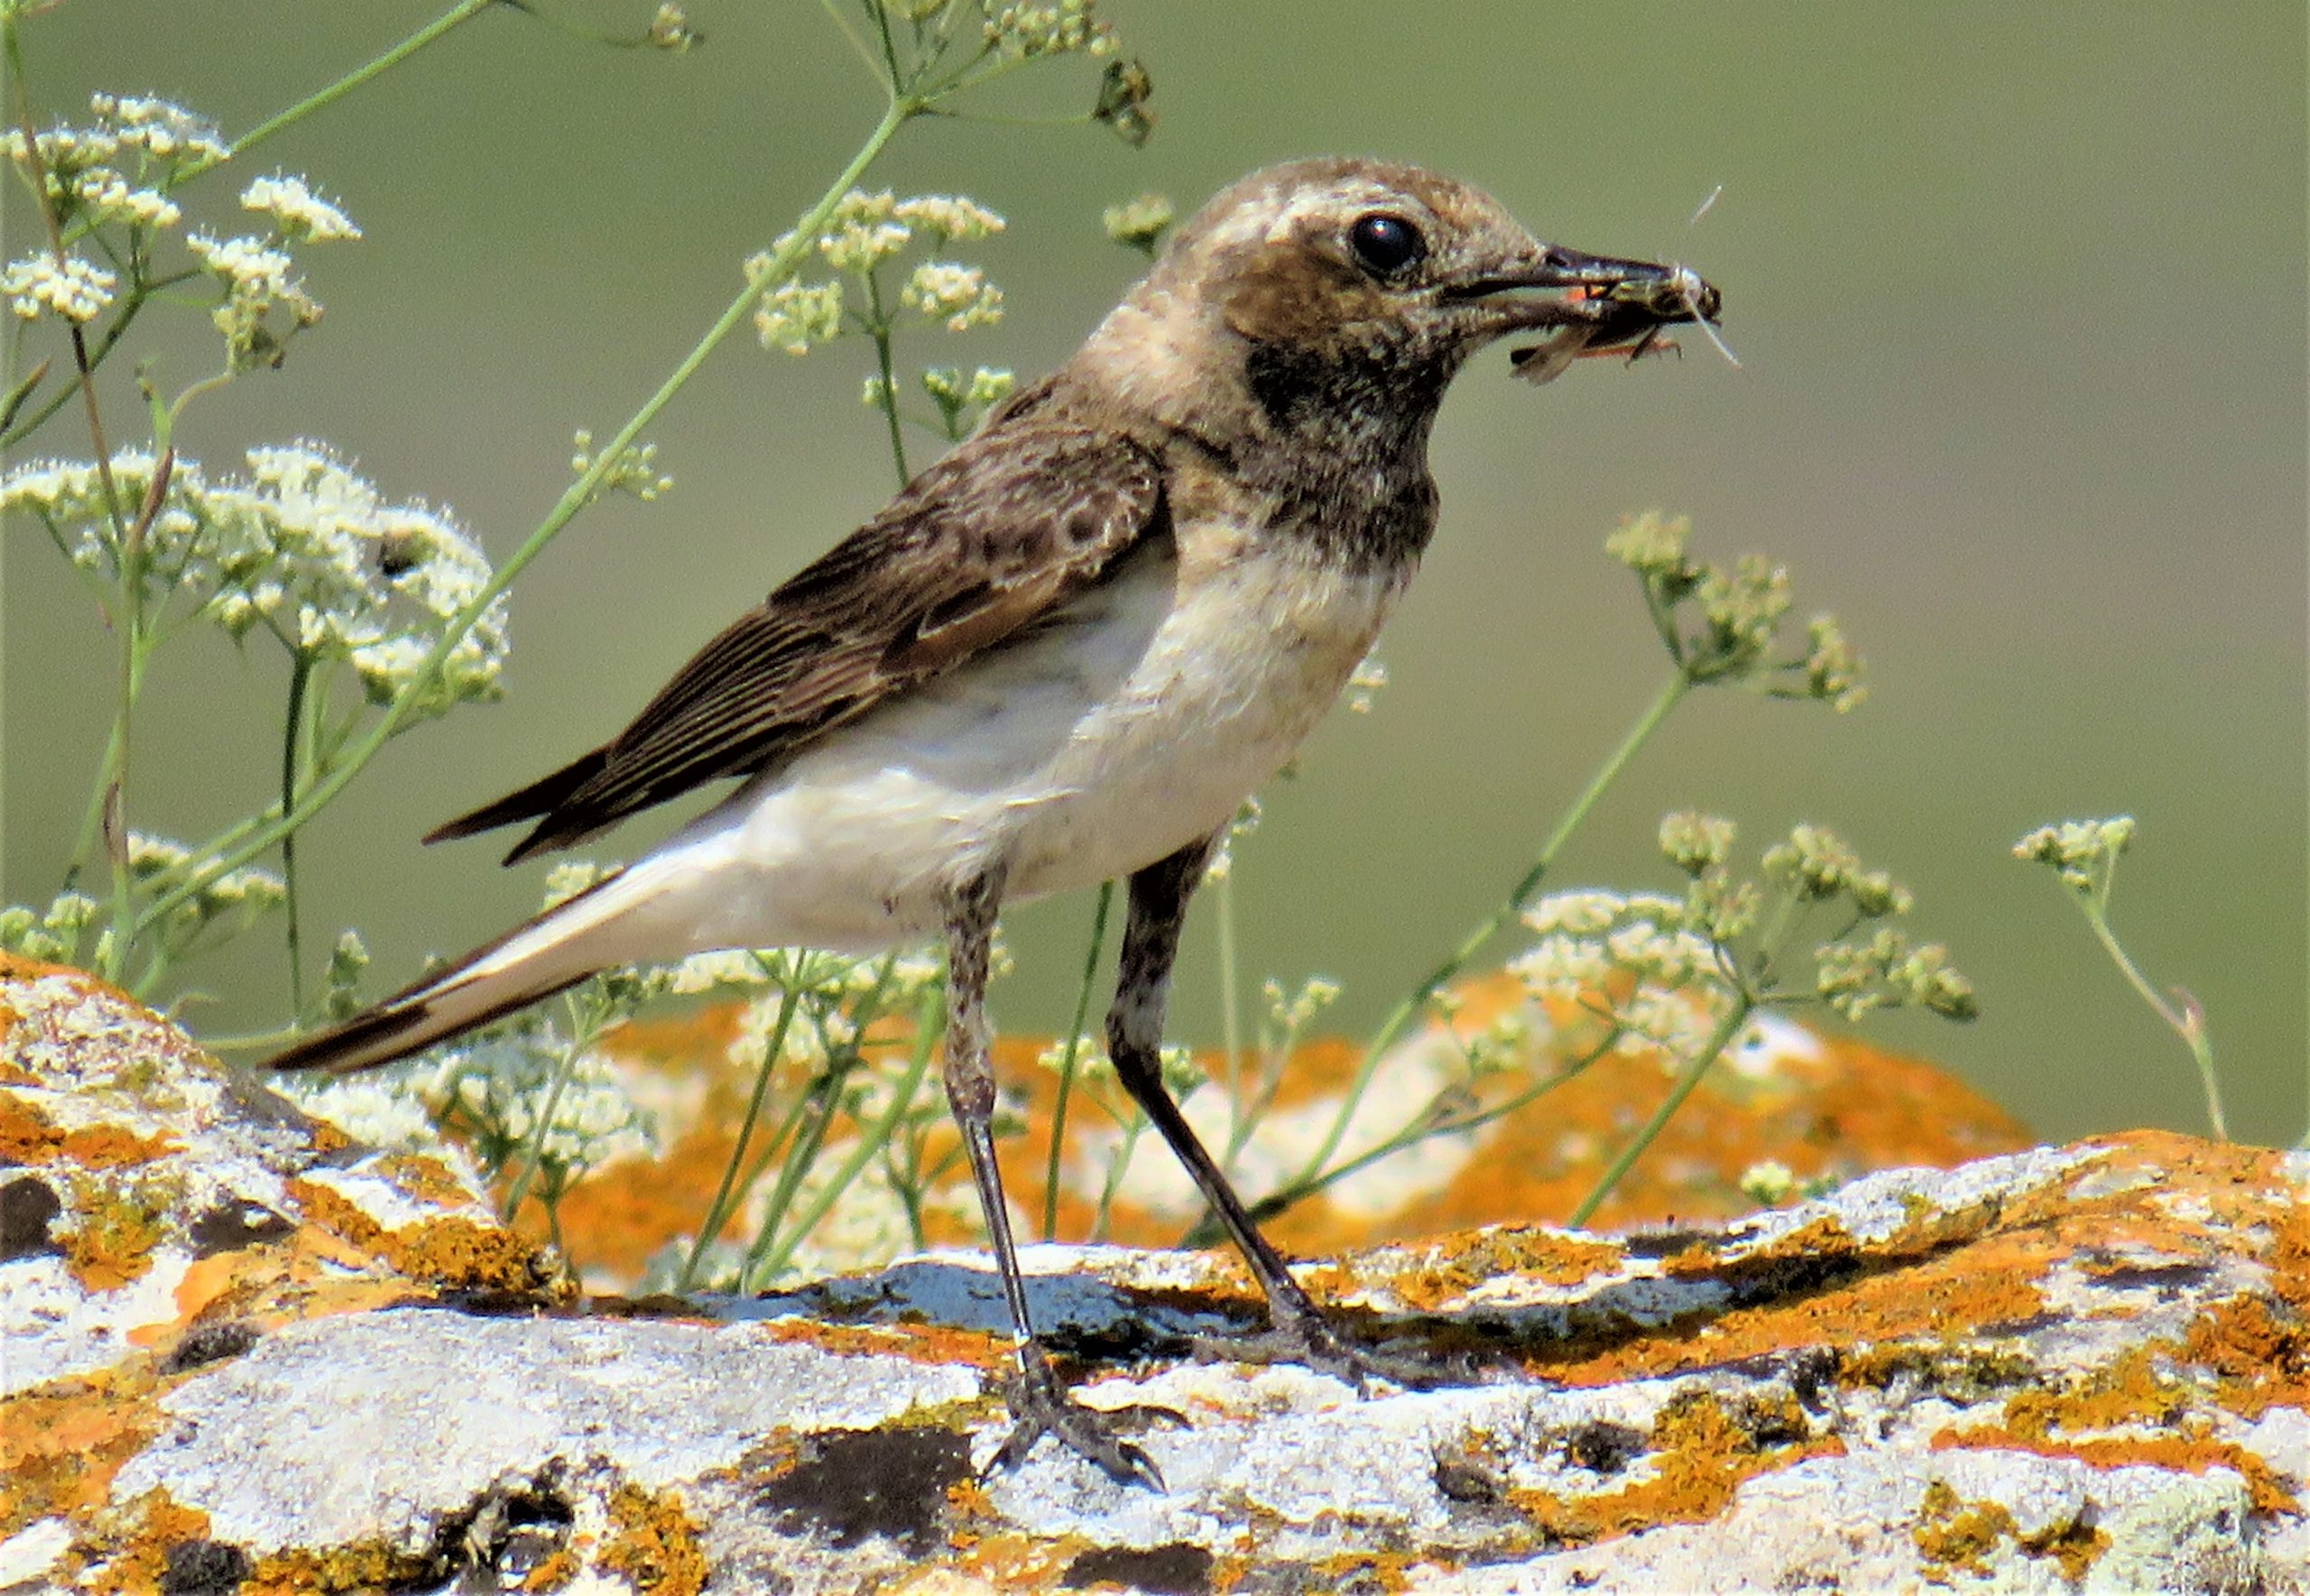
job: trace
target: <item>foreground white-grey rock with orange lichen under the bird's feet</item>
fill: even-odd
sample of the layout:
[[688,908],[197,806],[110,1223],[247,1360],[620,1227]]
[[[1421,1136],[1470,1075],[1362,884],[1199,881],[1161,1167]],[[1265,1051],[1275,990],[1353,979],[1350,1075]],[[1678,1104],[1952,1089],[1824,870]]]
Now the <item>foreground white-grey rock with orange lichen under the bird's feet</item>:
[[0,968],[0,1591],[2310,1589],[2310,1162],[2137,1132],[1732,1222],[1310,1263],[1428,1390],[1197,1363],[1224,1254],[1033,1247],[1167,1487],[1005,1432],[975,1254],[582,1298],[450,1159]]

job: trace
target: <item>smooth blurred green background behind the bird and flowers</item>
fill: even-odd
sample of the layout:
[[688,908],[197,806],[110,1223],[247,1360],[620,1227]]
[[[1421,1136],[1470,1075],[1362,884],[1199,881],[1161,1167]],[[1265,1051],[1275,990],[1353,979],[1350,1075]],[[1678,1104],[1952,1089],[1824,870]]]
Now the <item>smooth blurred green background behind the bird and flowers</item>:
[[[42,120],[95,88],[243,132],[420,25],[400,0],[67,0],[25,25]],[[649,5],[566,5],[638,30]],[[2211,1014],[2236,1132],[2292,1141],[2305,1079],[2303,7],[1599,7],[1113,2],[1155,74],[1146,150],[1104,129],[938,122],[875,185],[1012,219],[979,254],[1009,319],[901,358],[1060,358],[1134,275],[1104,203],[1185,212],[1261,162],[1374,152],[1499,194],[1543,238],[1689,259],[1726,291],[1730,370],[1594,363],[1532,390],[1495,353],[1437,427],[1444,527],[1381,644],[1393,686],[1335,716],[1240,855],[1245,972],[1347,982],[1370,1026],[1522,871],[1663,661],[1599,543],[1666,506],[1698,550],[1765,550],[1834,610],[1873,698],[1839,718],[1705,695],[1580,834],[1559,885],[1663,885],[1652,834],[1707,806],[1763,845],[1846,831],[1915,885],[1922,935],[1980,984],[1973,1028],[1887,1023],[2047,1136],[2201,1127],[2181,1044],[2123,989],[2051,875],[2007,845],[2141,820],[2116,919]],[[194,409],[187,453],[316,437],[497,552],[737,286],[873,122],[873,85],[799,0],[695,0],[705,49],[610,51],[513,9],[210,180],[310,173],[367,229],[305,252],[328,323],[284,372]],[[1007,109],[1088,104],[1076,62]],[[1712,187],[1723,196],[1689,224]],[[18,199],[12,192],[12,201]],[[28,217],[7,217],[9,254]],[[171,319],[152,316],[159,328]],[[196,314],[157,374],[208,370]],[[543,866],[418,834],[614,732],[739,607],[892,490],[864,346],[732,344],[651,437],[679,480],[608,501],[522,580],[508,698],[397,741],[307,831],[310,926],[358,924],[400,982],[492,935]],[[118,376],[118,374],[116,374]],[[109,386],[132,425],[125,379]],[[85,455],[58,420],[44,450]],[[917,439],[917,464],[931,453]],[[109,651],[37,529],[5,543],[5,889],[46,901],[109,704]],[[266,801],[273,649],[162,656],[136,825],[199,836]],[[640,850],[665,827],[617,834]],[[1007,1028],[1065,1023],[1088,896],[1012,915]],[[275,935],[187,972],[219,1028],[277,1019]],[[1173,1030],[1217,1039],[1208,905]]]

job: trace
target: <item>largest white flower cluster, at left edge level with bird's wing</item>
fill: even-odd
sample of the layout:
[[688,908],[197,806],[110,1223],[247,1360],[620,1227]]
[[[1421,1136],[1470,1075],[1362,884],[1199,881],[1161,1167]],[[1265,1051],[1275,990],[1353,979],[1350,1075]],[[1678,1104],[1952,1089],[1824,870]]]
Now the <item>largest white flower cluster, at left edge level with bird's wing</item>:
[[[152,485],[155,460],[113,457],[129,504]],[[233,637],[266,628],[312,661],[346,661],[372,702],[388,702],[420,674],[432,647],[490,582],[480,545],[423,504],[388,504],[314,443],[252,448],[247,478],[210,480],[178,460],[155,513],[139,570],[146,605],[171,601]],[[97,469],[35,462],[0,478],[0,513],[42,524],[83,570],[120,575],[120,547]],[[499,691],[506,601],[467,631],[425,698],[420,716]]]

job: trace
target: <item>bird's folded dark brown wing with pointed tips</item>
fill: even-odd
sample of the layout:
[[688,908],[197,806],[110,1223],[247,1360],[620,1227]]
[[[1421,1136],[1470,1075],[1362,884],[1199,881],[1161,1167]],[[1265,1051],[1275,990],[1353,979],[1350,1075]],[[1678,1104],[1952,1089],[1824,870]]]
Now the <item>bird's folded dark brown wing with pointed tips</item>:
[[1160,460],[1118,432],[979,432],[700,649],[612,741],[425,841],[534,818],[515,864],[758,771],[1030,628],[1164,517]]

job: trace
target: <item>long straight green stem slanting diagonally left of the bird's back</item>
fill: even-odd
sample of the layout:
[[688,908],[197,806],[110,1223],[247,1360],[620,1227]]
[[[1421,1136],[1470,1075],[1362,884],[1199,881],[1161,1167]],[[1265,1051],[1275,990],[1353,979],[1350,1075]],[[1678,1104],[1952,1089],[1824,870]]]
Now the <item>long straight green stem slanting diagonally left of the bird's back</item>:
[[578,510],[591,504],[594,494],[601,492],[603,478],[608,478],[610,469],[626,457],[626,450],[642,434],[642,430],[649,427],[649,423],[658,418],[658,411],[663,411],[672,402],[672,397],[691,381],[691,376],[698,374],[698,367],[707,363],[707,356],[711,356],[721,346],[721,342],[730,337],[730,333],[744,326],[746,316],[753,314],[755,300],[772,284],[783,282],[795,273],[804,254],[808,254],[815,247],[815,238],[820,231],[825,231],[825,224],[834,215],[834,206],[841,201],[841,196],[857,185],[857,180],[866,173],[866,169],[875,162],[875,157],[882,155],[882,148],[892,141],[892,136],[917,111],[919,106],[910,99],[892,102],[892,106],[882,113],[882,120],[875,122],[875,129],[866,136],[866,143],[859,146],[857,155],[850,157],[850,164],[843,166],[841,176],[834,178],[834,182],[818,199],[818,203],[802,215],[792,233],[788,233],[785,243],[772,252],[769,266],[753,282],[748,282],[746,289],[735,300],[730,300],[730,307],[714,321],[711,328],[707,328],[705,337],[698,340],[698,346],[681,358],[681,365],[677,365],[672,374],[663,383],[658,383],[658,390],[642,402],[642,407],[633,413],[633,418],[617,430],[617,437],[612,437],[608,446],[603,446],[603,450],[594,455],[594,462],[578,476],[575,483],[568,485],[568,490],[561,494],[561,501],[554,504],[554,508],[545,515],[543,522],[538,522],[536,531],[522,538],[522,545],[506,559],[504,566],[497,568],[497,575],[492,575],[490,582],[457,614],[457,619],[450,621],[448,628],[444,628],[441,637],[434,640],[432,651],[418,665],[416,677],[400,691],[400,695],[395,695],[395,700],[386,707],[386,711],[377,718],[377,723],[370,725],[370,730],[360,737],[360,741],[356,741],[344,753],[342,760],[335,760],[326,776],[305,788],[305,795],[296,801],[296,808],[289,808],[275,820],[256,827],[256,831],[252,831],[243,843],[224,852],[219,859],[213,859],[208,868],[203,868],[199,875],[178,882],[159,898],[155,898],[139,919],[139,928],[155,924],[162,915],[166,915],[178,903],[185,903],[187,898],[206,889],[213,880],[217,880],[226,871],[240,868],[256,855],[277,845],[282,836],[296,831],[307,820],[312,820],[321,808],[335,801],[335,797],[346,788],[346,783],[351,783],[353,776],[358,776],[367,767],[367,762],[377,758],[377,751],[383,748],[386,741],[402,730],[402,725],[409,721],[416,707],[432,695],[434,684],[441,679],[441,668],[448,663],[450,651],[455,651],[457,644],[464,642],[464,635],[474,631],[474,624],[483,617],[483,612],[492,603],[497,603],[497,598],[508,587],[513,587],[513,580],[529,568],[529,561],[534,561],[538,554],[545,552],[545,545],[550,545],[561,534],[561,529],[568,527],[571,520],[575,520]]

